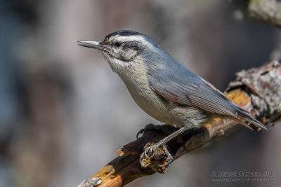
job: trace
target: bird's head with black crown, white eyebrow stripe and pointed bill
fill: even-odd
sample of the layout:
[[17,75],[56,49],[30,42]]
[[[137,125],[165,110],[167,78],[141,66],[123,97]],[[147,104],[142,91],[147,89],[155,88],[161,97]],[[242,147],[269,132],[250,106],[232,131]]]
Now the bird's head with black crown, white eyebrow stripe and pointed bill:
[[100,50],[117,73],[133,67],[137,60],[145,63],[143,57],[160,48],[150,36],[129,30],[112,32],[103,41],[78,41],[78,44]]

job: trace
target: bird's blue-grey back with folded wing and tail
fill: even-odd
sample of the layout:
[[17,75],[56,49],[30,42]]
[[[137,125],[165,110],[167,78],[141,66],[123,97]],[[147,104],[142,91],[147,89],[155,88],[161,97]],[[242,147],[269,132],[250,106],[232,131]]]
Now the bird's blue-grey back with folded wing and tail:
[[[168,53],[163,52],[147,61],[147,76],[150,88],[159,96],[186,107],[201,109],[217,116],[231,118],[249,127],[247,120],[256,127],[264,127],[249,113],[233,104],[214,85],[194,74],[182,64],[176,62]],[[249,127],[251,128],[251,127]]]

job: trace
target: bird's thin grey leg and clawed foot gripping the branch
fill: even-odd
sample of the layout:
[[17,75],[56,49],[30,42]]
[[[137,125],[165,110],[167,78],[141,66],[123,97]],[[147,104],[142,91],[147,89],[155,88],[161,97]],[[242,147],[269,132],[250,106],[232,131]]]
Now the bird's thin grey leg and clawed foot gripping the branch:
[[166,143],[168,141],[170,141],[171,139],[173,139],[174,137],[178,136],[178,134],[185,132],[185,130],[187,130],[186,127],[181,127],[179,130],[170,134],[168,137],[165,137],[164,139],[161,139],[160,141],[158,141],[156,144],[145,148],[145,151],[144,151],[145,157],[150,158],[150,156],[148,156],[148,155],[153,155],[155,150],[157,148],[159,148],[160,146],[162,146],[164,152],[166,153],[168,163],[166,165],[159,165],[159,167],[165,167],[165,166],[169,165],[171,163],[171,161],[173,160],[173,156],[171,155],[171,153],[169,153],[168,149],[166,148]]

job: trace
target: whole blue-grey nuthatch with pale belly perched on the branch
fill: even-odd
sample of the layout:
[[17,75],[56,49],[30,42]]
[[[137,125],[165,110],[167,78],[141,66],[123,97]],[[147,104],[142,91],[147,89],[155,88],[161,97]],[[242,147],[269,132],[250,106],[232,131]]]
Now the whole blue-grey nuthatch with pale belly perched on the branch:
[[[178,134],[202,127],[214,118],[230,118],[249,127],[247,121],[266,130],[214,85],[174,60],[150,36],[119,31],[108,34],[103,41],[78,41],[78,44],[103,53],[143,111],[162,123],[179,127],[173,134],[145,148],[147,157],[155,148],[166,147]],[[166,148],[165,151],[172,160]]]

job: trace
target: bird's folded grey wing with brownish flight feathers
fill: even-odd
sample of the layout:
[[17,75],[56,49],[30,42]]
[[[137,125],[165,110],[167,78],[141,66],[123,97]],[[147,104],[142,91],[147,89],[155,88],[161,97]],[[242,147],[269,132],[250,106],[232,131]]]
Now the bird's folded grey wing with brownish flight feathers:
[[183,74],[166,74],[166,72],[149,74],[150,88],[169,102],[196,107],[207,113],[239,120],[235,104],[207,81],[188,69],[185,71],[180,72]]

